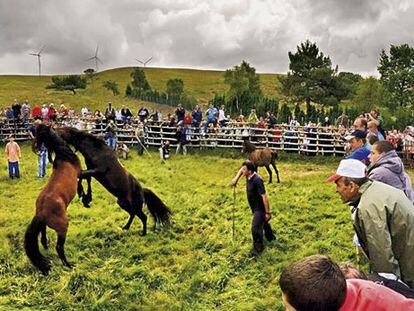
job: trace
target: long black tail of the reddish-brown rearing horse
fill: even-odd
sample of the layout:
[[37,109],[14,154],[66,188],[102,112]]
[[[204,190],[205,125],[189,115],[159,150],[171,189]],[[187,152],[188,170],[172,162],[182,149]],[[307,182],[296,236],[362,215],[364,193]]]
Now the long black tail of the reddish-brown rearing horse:
[[50,270],[50,260],[40,253],[37,239],[43,226],[46,224],[41,217],[33,217],[24,235],[24,249],[32,264],[46,275]]

